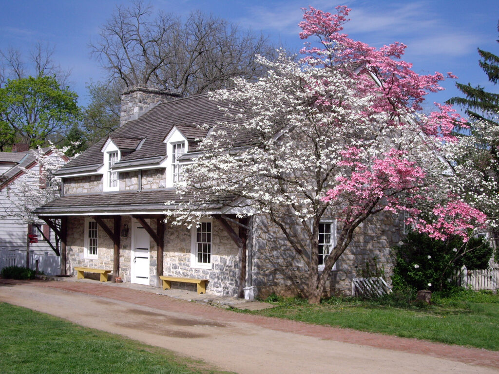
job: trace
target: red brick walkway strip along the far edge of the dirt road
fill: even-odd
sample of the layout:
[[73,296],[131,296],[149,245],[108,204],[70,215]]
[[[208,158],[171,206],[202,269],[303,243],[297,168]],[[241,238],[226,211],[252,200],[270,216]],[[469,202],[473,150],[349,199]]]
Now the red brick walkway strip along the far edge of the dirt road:
[[[19,281],[7,280],[0,280],[0,282],[22,283]],[[499,352],[495,351],[465,348],[461,346],[449,346],[417,339],[399,338],[388,335],[359,332],[350,329],[318,326],[284,319],[235,313],[209,305],[190,303],[185,300],[174,299],[164,295],[119,287],[116,285],[111,286],[104,283],[30,281],[29,284],[39,287],[51,287],[72,292],[81,292],[150,308],[201,316],[220,322],[250,323],[276,331],[302,334],[321,339],[330,339],[338,342],[359,344],[382,349],[428,355],[466,364],[499,369]]]

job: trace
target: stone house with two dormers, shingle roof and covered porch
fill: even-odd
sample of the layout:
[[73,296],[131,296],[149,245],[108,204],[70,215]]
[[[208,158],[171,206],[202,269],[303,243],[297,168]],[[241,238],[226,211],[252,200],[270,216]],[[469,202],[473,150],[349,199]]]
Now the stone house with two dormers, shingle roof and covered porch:
[[[259,297],[300,293],[305,266],[264,214],[238,219],[221,199],[209,203],[211,218],[199,227],[163,222],[163,212],[175,208],[165,201],[179,199],[173,184],[182,163],[207,135],[198,125],[222,120],[219,105],[207,95],[180,98],[143,85],[124,92],[120,127],[61,168],[62,196],[36,209],[47,224],[61,222],[63,271],[112,269],[124,282],[151,286],[159,285],[159,275],[203,278],[207,292],[219,295],[241,296],[244,287]],[[359,227],[325,292],[349,293],[351,278],[373,257],[389,276],[390,247],[402,234],[398,223],[378,216]],[[321,230],[323,244],[333,244],[334,216]]]

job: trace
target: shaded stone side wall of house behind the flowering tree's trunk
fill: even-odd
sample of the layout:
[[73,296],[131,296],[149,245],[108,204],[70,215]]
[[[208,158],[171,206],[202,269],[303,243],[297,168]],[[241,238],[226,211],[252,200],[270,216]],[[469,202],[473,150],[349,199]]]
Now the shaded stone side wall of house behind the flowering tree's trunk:
[[[252,285],[261,298],[275,293],[282,296],[303,295],[306,289],[307,267],[290,247],[280,229],[263,215],[253,218]],[[338,228],[340,223],[338,223]],[[338,232],[339,235],[339,232]],[[390,248],[402,237],[401,222],[391,214],[379,214],[359,225],[345,252],[331,271],[324,296],[350,295],[352,278],[362,277],[367,263],[385,273],[390,283],[393,259]]]

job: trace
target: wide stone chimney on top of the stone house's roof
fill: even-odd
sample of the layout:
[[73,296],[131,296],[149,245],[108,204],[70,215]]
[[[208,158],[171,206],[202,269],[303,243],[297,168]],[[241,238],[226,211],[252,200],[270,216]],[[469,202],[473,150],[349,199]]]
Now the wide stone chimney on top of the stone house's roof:
[[121,95],[120,126],[136,120],[160,103],[180,97],[182,95],[177,92],[147,84],[128,87]]

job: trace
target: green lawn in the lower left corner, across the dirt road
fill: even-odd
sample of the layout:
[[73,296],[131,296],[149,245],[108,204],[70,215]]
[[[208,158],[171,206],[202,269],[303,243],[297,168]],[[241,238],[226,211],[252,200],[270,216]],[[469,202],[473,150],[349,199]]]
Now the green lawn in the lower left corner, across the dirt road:
[[118,335],[0,303],[0,373],[221,373]]

